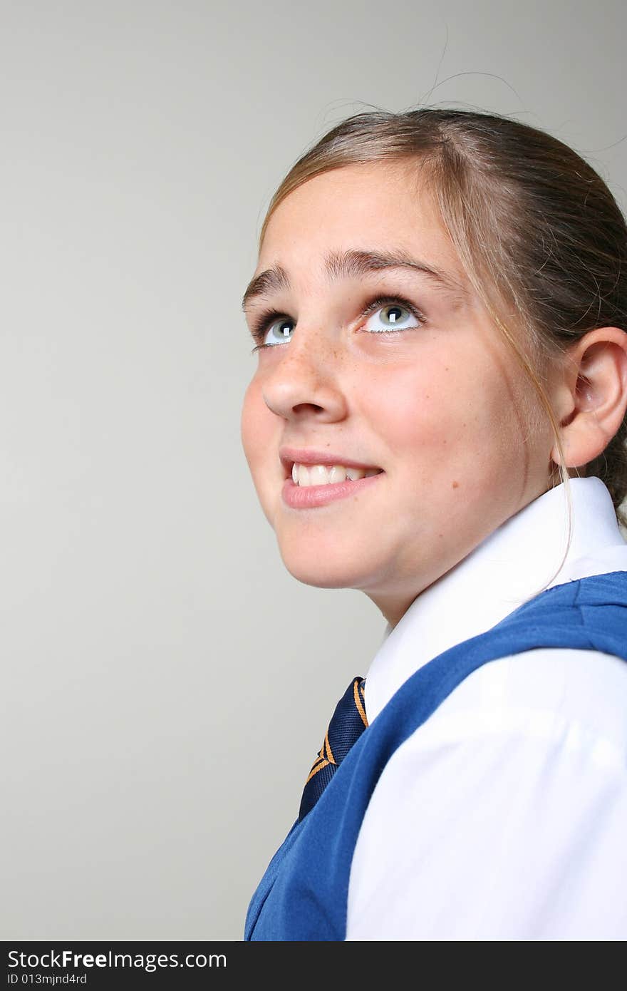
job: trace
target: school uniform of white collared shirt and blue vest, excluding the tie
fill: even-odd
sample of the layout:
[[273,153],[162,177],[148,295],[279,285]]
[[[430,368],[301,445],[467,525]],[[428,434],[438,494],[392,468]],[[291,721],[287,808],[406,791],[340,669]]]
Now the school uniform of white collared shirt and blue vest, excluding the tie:
[[387,627],[246,938],[627,937],[627,542],[599,479],[571,492],[557,574],[563,485]]

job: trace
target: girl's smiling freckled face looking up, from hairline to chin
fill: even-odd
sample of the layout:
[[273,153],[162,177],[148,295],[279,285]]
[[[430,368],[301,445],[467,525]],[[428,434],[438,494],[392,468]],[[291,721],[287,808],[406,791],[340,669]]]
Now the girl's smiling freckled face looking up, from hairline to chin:
[[[246,312],[264,347],[242,439],[299,581],[361,589],[393,625],[549,488],[550,425],[415,165],[348,165],[290,193]],[[294,463],[340,470],[306,487],[297,468],[295,486]],[[342,466],[368,475],[338,481]]]

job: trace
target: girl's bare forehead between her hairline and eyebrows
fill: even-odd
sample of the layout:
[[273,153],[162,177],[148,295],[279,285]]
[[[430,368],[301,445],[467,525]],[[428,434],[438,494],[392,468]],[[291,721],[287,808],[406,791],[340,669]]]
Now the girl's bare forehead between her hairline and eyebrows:
[[330,250],[377,248],[418,254],[466,276],[418,163],[344,165],[308,179],[270,216],[258,272],[279,262],[306,268]]

